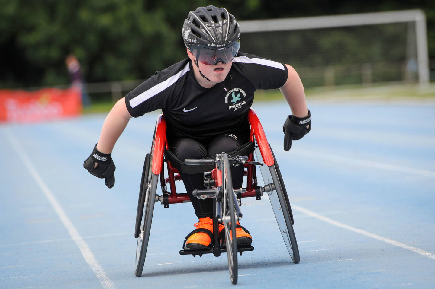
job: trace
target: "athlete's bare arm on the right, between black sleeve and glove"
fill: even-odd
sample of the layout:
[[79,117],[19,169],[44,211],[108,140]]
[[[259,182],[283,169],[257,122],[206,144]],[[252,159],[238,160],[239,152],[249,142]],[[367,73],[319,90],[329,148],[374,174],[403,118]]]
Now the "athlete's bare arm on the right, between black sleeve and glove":
[[291,113],[297,117],[308,116],[307,103],[305,102],[305,90],[301,78],[293,67],[286,64],[288,70],[287,81],[280,90],[290,106]]

